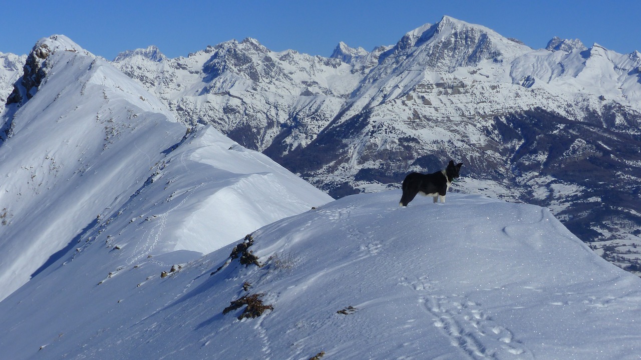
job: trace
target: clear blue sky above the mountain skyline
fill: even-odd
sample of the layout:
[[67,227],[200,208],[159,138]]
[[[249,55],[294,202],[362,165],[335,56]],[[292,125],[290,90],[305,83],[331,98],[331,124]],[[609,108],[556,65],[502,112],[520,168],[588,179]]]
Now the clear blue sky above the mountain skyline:
[[618,53],[641,51],[641,0],[1,0],[0,52],[25,54],[63,34],[94,54],[156,45],[174,58],[233,38],[273,51],[329,56],[338,42],[370,51],[443,15],[538,49],[554,36]]

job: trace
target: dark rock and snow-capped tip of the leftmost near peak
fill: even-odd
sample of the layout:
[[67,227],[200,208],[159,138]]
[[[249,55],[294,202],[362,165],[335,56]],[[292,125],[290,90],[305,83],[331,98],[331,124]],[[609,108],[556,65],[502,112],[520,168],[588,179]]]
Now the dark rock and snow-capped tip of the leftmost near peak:
[[72,51],[93,56],[65,35],[51,35],[38,40],[22,67],[24,73],[13,84],[13,92],[7,98],[7,105],[23,104],[35,95],[42,79],[47,75],[46,60],[56,51]]

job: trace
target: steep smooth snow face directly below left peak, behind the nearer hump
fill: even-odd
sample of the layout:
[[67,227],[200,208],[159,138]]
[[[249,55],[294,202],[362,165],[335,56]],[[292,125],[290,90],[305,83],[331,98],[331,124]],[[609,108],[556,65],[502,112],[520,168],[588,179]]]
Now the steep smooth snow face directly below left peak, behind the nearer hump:
[[[184,133],[184,126],[168,121],[172,115],[154,111],[162,104],[140,99],[148,94],[140,85],[66,38],[43,40],[35,49],[49,49],[42,59],[49,70],[31,99],[3,119],[10,122],[10,138],[0,145],[6,176],[0,185],[6,239],[0,243],[6,269],[0,297],[124,202]],[[120,87],[101,84],[107,78]]]

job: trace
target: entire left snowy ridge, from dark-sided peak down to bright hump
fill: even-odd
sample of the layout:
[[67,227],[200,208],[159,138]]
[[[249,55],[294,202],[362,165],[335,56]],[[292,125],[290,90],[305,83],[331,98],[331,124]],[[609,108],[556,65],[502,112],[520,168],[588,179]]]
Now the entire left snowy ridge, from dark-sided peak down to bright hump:
[[31,55],[38,81],[18,82],[21,101],[2,120],[0,299],[80,251],[105,222],[153,224],[132,238],[103,234],[112,247],[152,238],[138,252],[210,252],[331,200],[211,127],[188,133],[154,95],[69,38],[44,38]]

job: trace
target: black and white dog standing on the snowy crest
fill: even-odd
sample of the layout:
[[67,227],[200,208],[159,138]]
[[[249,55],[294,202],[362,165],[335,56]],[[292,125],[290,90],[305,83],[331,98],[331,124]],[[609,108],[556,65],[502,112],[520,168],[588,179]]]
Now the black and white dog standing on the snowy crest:
[[419,192],[425,196],[433,196],[434,202],[438,202],[438,197],[440,197],[441,202],[445,202],[447,189],[452,184],[452,181],[458,177],[461,165],[463,163],[454,165],[454,161],[450,160],[447,168],[433,174],[412,172],[403,180],[403,197],[401,197],[399,206],[403,206],[403,208],[407,206]]

